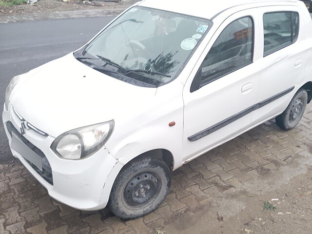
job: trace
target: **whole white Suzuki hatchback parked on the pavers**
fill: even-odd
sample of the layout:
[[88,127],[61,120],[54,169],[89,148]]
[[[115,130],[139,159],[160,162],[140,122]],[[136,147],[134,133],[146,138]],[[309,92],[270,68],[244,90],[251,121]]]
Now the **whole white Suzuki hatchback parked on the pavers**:
[[12,78],[12,154],[80,210],[156,209],[171,171],[312,99],[312,20],[297,0],[142,0],[74,53]]

